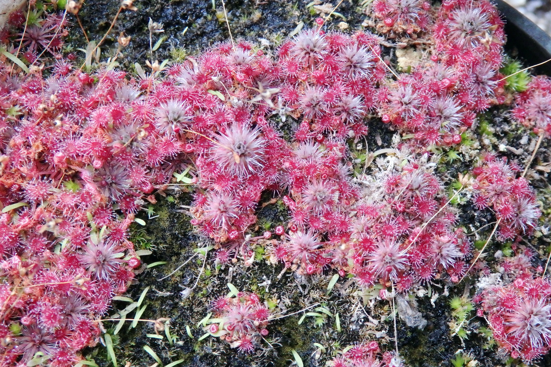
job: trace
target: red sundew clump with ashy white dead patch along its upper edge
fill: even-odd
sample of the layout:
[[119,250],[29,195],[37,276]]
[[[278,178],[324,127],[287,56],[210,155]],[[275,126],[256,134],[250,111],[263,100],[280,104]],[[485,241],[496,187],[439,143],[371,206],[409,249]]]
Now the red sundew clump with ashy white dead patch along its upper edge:
[[[303,183],[302,191],[291,190],[295,200],[285,198],[292,213],[290,231],[270,250],[271,256],[303,274],[325,267],[341,276],[349,273],[362,287],[381,283],[405,292],[444,272],[457,282],[467,270],[469,241],[453,228],[453,211],[436,200],[441,183],[428,162],[412,161],[400,168],[396,163],[405,152],[396,153],[377,161],[379,171],[360,182],[364,190],[354,187],[344,166],[325,182],[316,178]],[[292,171],[290,176],[303,177]],[[350,199],[340,191],[347,187]],[[312,209],[314,204],[320,209]],[[350,211],[354,214],[347,215]]]

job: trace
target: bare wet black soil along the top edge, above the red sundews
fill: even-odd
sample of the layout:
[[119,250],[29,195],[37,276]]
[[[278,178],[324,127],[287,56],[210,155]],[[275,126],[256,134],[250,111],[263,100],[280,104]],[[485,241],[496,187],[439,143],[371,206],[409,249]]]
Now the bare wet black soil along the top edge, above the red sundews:
[[[255,44],[260,43],[260,39],[266,39],[273,46],[274,42],[280,42],[289,35],[300,21],[304,22],[305,27],[314,24],[314,19],[319,15],[310,13],[311,7],[306,8],[309,3],[285,0],[228,0],[225,7],[234,39],[245,39]],[[101,39],[109,29],[119,5],[117,1],[99,0],[82,7],[79,17],[90,40]],[[220,0],[136,1],[134,6],[138,8],[135,12],[121,12],[102,47],[105,48],[105,57],[112,56],[118,46],[117,37],[120,32],[132,36],[129,45],[122,51],[123,57],[118,59],[123,68],[128,68],[134,62],[144,65],[146,59],[168,59],[171,57],[171,48],[184,48],[187,53],[193,54],[217,42],[229,40],[228,26]],[[356,29],[364,19],[361,10],[356,7],[356,2],[344,1],[338,9],[347,19],[350,29]],[[77,20],[71,18],[77,24]],[[164,32],[154,34],[152,43],[154,44],[160,36],[166,37],[158,50],[154,51],[153,57],[149,52],[150,18],[154,22],[164,24]],[[334,18],[336,20],[328,22],[325,28],[334,29],[339,21],[343,20]],[[71,39],[73,47],[86,48],[83,44],[82,30],[78,26],[73,28]]]

